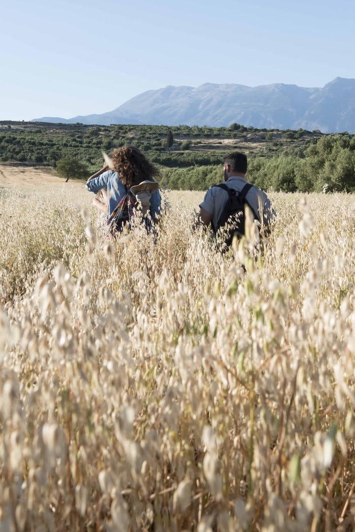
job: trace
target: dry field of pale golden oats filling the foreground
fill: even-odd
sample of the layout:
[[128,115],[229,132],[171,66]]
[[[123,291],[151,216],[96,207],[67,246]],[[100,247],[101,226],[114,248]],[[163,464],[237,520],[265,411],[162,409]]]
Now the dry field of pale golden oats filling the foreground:
[[0,530],[352,530],[353,197],[271,194],[255,261],[250,239],[222,256],[192,234],[200,193],[113,242],[82,184],[18,172],[0,172]]

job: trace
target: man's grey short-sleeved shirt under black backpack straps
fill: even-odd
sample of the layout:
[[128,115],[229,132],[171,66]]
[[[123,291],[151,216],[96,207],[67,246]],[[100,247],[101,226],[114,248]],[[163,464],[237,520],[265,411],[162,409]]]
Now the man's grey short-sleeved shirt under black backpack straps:
[[[240,176],[232,176],[224,185],[241,192],[242,188],[248,184],[248,181]],[[200,207],[205,209],[209,214],[212,214],[213,226],[217,226],[219,217],[223,212],[224,205],[228,199],[228,193],[223,188],[211,187],[207,190],[204,201],[200,203]],[[264,225],[269,226],[275,217],[275,211],[272,207],[271,201],[259,188],[252,186],[246,195],[247,203],[253,211],[258,215],[259,222],[263,219]]]

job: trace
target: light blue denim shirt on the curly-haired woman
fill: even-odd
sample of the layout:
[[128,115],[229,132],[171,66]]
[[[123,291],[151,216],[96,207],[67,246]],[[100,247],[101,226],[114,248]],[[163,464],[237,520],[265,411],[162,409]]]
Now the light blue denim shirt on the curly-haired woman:
[[[107,189],[107,218],[109,218],[125,194],[130,192],[130,189],[126,189],[122,184],[119,173],[113,172],[112,170],[107,170],[107,172],[100,174],[100,176],[97,176],[94,179],[91,179],[91,181],[86,184],[86,189],[89,190],[89,192],[97,193],[102,188]],[[153,220],[158,214],[160,214],[161,204],[162,198],[160,197],[159,190],[156,190],[156,192],[153,192],[150,199],[150,215]]]

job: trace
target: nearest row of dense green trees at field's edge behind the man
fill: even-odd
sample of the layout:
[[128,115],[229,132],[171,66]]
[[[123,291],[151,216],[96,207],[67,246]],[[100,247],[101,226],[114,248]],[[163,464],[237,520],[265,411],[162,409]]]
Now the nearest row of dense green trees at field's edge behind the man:
[[[167,188],[206,190],[223,180],[222,165],[164,168]],[[248,157],[248,180],[281,192],[355,192],[355,136],[326,135],[303,149],[288,148],[271,157]]]

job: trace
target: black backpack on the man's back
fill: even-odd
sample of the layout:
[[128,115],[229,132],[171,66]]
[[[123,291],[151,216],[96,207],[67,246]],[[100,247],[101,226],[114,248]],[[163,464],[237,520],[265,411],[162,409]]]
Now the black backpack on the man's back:
[[227,185],[224,185],[224,183],[220,183],[219,185],[213,185],[214,187],[223,188],[228,193],[228,199],[224,204],[223,211],[221,215],[218,218],[216,227],[214,226],[214,223],[212,222],[212,227],[215,232],[218,231],[221,227],[224,227],[226,223],[228,222],[228,227],[226,231],[224,232],[223,240],[227,246],[230,246],[232,244],[233,236],[236,234],[238,237],[241,237],[244,235],[245,231],[245,222],[246,222],[246,216],[244,213],[244,205],[247,203],[247,205],[250,207],[254,218],[258,219],[257,214],[252,209],[252,207],[249,205],[249,203],[246,200],[246,195],[248,194],[249,190],[251,189],[252,185],[250,183],[247,183],[247,185],[244,185],[242,190],[238,192],[237,190],[234,190],[233,188],[227,187]]

